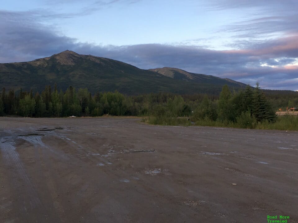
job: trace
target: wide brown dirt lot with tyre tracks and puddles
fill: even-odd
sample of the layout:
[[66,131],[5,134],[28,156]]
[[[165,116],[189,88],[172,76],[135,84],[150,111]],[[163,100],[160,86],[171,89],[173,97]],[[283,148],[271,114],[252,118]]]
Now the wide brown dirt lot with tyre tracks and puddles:
[[298,132],[138,121],[0,118],[0,222],[298,222]]

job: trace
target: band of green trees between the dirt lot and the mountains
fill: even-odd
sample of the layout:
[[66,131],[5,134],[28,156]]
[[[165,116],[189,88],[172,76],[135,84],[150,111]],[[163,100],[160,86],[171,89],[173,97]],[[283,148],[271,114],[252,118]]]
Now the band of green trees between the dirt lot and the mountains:
[[24,117],[67,116],[155,116],[183,117],[232,121],[253,118],[257,121],[274,121],[276,116],[272,104],[257,84],[245,90],[231,92],[225,85],[219,95],[175,95],[170,93],[126,96],[117,91],[91,94],[87,88],[65,92],[56,86],[46,86],[39,94],[14,90],[0,94],[0,114]]

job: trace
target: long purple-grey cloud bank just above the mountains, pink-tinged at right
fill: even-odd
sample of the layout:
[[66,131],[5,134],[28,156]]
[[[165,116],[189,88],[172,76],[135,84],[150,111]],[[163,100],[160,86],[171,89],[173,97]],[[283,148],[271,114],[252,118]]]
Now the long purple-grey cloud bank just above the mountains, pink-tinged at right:
[[247,41],[242,49],[140,44],[99,46],[78,42],[45,26],[30,12],[0,11],[0,63],[30,61],[64,50],[130,63],[143,69],[176,67],[266,89],[298,89],[298,33],[270,41]]

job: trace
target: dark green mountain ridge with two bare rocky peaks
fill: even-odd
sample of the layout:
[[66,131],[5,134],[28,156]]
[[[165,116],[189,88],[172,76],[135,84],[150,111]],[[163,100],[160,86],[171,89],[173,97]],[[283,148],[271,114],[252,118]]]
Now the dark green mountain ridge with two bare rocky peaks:
[[143,70],[117,60],[63,51],[22,63],[0,63],[0,87],[41,91],[46,85],[65,90],[70,85],[91,92],[115,91],[136,95],[157,92],[219,94],[223,85],[245,84],[177,68]]

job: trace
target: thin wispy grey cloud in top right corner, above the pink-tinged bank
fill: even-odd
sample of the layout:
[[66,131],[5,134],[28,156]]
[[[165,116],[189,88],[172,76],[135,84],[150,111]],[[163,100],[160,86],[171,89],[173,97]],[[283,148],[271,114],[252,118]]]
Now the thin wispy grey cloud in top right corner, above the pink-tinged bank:
[[242,12],[241,21],[224,26],[220,32],[232,32],[234,38],[271,38],[297,33],[298,1],[292,0],[214,0],[209,10]]

